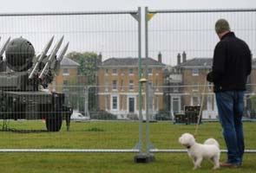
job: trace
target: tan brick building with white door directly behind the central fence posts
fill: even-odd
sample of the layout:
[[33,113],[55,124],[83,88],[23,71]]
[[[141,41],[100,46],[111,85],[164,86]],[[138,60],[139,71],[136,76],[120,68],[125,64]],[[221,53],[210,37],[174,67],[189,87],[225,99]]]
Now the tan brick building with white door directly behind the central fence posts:
[[[163,68],[161,54],[158,61],[141,59],[141,67],[148,63],[148,82],[154,88],[153,111],[163,107]],[[139,114],[139,61],[138,58],[109,58],[98,66],[98,106],[118,119],[128,119]],[[142,76],[145,77],[145,68]],[[145,115],[145,89],[142,90],[142,114]],[[129,117],[130,116],[130,117]]]

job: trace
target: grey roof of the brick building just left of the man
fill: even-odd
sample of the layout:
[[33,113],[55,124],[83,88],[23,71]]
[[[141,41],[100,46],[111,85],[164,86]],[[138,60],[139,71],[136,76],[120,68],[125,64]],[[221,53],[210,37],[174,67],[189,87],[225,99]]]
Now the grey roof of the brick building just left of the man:
[[181,64],[177,65],[176,67],[184,67],[184,68],[206,67],[206,68],[211,68],[212,65],[213,65],[213,58],[194,58],[194,59],[182,62]]

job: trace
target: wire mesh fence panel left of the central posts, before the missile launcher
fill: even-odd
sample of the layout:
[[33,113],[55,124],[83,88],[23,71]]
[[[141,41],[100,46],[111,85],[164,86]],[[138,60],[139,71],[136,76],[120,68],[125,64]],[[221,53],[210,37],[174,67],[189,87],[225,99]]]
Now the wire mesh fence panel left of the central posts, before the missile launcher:
[[[138,14],[137,10],[0,14],[1,44],[10,37],[1,61],[7,67],[0,73],[1,149],[138,152],[133,149],[138,141],[138,122],[113,121],[115,115],[101,110],[98,96],[101,87],[110,83],[99,83],[102,76],[97,75],[102,61],[138,57]],[[18,39],[13,41],[15,38]],[[44,55],[43,49],[50,42]],[[53,49],[61,42],[55,55]],[[59,55],[61,50],[65,52],[68,42],[68,51],[59,66]],[[11,45],[21,49],[13,51]],[[67,131],[65,120],[69,125],[69,112],[72,115]]]

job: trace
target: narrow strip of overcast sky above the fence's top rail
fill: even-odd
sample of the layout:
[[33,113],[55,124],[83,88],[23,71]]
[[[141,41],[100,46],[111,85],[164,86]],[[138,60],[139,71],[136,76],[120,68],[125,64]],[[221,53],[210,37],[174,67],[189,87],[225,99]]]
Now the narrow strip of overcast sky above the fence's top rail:
[[136,10],[256,8],[255,0],[1,0],[0,11]]

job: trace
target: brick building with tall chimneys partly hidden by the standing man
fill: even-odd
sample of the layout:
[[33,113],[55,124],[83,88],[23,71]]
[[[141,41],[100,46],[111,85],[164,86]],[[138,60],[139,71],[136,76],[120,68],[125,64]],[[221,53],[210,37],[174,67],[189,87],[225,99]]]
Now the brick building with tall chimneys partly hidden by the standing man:
[[[212,86],[207,82],[207,73],[212,69],[212,58],[194,58],[187,60],[187,54],[183,52],[177,55],[177,66],[167,74],[169,98],[168,110],[172,113],[184,112],[184,106],[200,106],[202,96],[203,118],[215,119],[217,106]],[[205,92],[204,91],[204,86]]]

